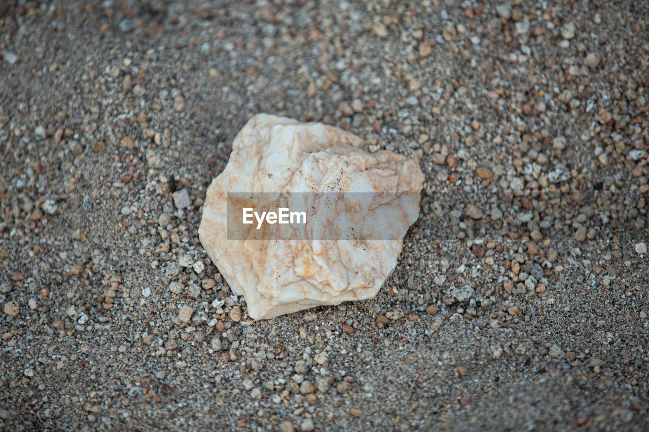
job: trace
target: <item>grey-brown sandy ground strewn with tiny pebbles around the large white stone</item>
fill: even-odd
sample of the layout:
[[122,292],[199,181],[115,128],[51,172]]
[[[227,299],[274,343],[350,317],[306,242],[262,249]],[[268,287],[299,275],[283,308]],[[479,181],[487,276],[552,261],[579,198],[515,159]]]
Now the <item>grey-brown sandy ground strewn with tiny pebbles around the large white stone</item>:
[[[645,429],[648,17],[0,0],[0,426]],[[258,112],[421,155],[373,300],[253,322],[210,263],[206,187]]]

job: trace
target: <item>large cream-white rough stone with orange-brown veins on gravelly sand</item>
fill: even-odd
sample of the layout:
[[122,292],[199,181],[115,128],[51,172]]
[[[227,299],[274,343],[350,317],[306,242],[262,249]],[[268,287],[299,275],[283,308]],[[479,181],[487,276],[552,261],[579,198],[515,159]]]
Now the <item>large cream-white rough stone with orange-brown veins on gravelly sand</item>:
[[[252,117],[234,139],[225,170],[208,188],[199,238],[232,292],[245,296],[251,318],[373,298],[396,267],[403,237],[419,217],[424,176],[419,161],[388,150],[371,153],[364,145],[333,126],[267,114]],[[351,207],[343,213],[361,221],[353,227],[359,232],[389,220],[394,237],[363,244],[339,237],[270,239],[263,247],[254,239],[228,239],[228,193],[326,191],[388,193],[381,196],[398,217],[376,219],[378,213]],[[336,221],[323,226],[337,228]]]

